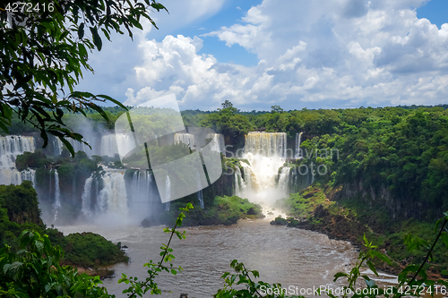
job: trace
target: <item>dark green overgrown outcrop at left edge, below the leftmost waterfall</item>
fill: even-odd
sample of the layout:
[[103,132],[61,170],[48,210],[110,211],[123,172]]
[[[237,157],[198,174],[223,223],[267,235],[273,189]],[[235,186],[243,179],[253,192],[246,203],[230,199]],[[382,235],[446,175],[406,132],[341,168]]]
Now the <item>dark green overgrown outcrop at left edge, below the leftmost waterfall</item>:
[[0,207],[7,210],[11,222],[43,226],[38,194],[30,181],[24,181],[21,185],[0,185]]

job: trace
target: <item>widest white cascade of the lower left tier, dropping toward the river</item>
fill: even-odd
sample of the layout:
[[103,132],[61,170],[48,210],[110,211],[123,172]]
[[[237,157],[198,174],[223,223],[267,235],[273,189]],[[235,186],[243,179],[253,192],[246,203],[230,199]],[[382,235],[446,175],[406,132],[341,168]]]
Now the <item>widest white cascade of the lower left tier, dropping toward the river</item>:
[[98,204],[102,213],[127,215],[125,175],[122,172],[107,172],[103,177],[103,189],[99,192]]

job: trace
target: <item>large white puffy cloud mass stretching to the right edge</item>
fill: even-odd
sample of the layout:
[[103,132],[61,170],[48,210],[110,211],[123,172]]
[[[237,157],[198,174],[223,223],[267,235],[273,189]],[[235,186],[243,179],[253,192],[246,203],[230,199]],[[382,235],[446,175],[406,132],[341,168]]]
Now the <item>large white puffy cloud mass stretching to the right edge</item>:
[[257,55],[246,67],[200,55],[201,37],[142,38],[136,105],[169,92],[182,108],[246,109],[443,103],[448,24],[418,19],[424,0],[264,0],[242,20],[205,34]]

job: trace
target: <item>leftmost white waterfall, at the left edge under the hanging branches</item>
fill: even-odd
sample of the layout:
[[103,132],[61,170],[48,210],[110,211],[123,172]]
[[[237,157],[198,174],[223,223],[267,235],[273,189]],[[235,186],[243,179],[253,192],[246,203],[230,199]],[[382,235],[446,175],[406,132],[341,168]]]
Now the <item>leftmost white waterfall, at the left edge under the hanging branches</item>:
[[36,186],[35,171],[31,169],[19,172],[15,167],[15,158],[23,152],[34,152],[33,137],[8,135],[0,137],[0,184],[22,183],[30,180]]

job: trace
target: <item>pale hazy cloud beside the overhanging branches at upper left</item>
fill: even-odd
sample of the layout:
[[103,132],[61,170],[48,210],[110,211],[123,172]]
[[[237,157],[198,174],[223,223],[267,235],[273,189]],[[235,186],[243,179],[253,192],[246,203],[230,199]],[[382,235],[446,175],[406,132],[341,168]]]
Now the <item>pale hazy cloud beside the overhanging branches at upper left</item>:
[[[103,37],[103,48],[90,55],[90,64],[95,73],[84,73],[84,79],[78,85],[80,90],[88,90],[94,94],[108,94],[116,99],[124,99],[127,89],[144,89],[147,81],[135,78],[136,65],[144,64],[142,45],[147,38],[163,39],[169,34],[183,28],[194,21],[201,21],[218,13],[224,0],[192,0],[167,3],[169,14],[165,11],[153,11],[151,18],[156,21],[159,30],[142,19],[143,30],[134,30],[134,42],[125,35],[112,33],[112,42]],[[199,40],[198,38],[195,39]],[[202,42],[202,40],[200,40]],[[194,45],[197,49],[199,44]],[[138,92],[137,92],[138,93]]]

